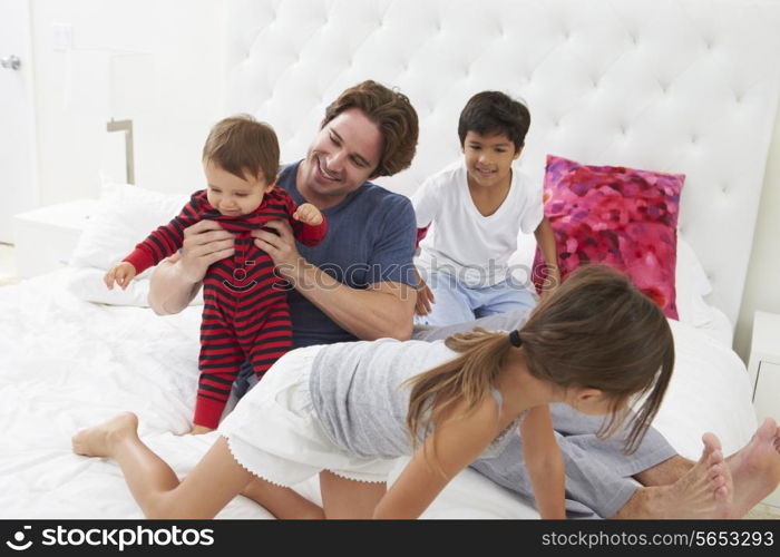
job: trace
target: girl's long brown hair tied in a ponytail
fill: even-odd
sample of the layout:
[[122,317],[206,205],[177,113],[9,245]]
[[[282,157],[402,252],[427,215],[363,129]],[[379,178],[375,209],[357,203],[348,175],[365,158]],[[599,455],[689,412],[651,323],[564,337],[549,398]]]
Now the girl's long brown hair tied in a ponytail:
[[[674,367],[672,331],[655,303],[617,271],[585,265],[536,306],[519,335],[532,375],[564,388],[598,389],[610,398],[612,411],[599,437],[622,427],[625,403],[646,395],[625,441],[626,453],[636,450]],[[445,343],[461,355],[409,380],[407,427],[413,443],[456,403],[474,410],[513,349],[506,332],[479,328]]]

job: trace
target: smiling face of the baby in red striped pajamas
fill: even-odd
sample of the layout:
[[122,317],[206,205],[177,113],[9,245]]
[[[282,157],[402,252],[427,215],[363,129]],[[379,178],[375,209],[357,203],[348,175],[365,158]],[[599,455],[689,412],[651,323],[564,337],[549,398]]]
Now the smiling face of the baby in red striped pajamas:
[[203,164],[208,187],[208,203],[225,216],[248,215],[263,203],[263,197],[273,189],[274,183],[269,184],[265,177],[244,175],[235,176],[212,160]]

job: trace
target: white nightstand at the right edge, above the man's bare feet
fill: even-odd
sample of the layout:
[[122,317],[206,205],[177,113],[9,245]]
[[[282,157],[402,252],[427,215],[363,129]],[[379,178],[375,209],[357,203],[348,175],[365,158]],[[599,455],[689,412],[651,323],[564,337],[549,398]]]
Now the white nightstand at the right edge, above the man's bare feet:
[[[780,315],[755,312],[748,373],[759,423],[766,418],[780,422]],[[780,489],[763,502],[780,508]]]

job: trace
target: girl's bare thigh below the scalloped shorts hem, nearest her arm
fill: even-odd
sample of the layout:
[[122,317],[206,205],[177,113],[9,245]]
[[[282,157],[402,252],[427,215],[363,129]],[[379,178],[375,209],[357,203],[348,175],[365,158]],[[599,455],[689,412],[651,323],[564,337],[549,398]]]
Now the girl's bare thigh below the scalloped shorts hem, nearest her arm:
[[372,518],[388,490],[387,483],[348,480],[333,472],[320,472],[320,490],[325,518]]

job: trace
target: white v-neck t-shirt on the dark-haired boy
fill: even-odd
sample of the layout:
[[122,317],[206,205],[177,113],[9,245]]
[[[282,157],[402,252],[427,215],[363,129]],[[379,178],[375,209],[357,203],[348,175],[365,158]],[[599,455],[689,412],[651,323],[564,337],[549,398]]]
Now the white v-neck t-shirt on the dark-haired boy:
[[426,179],[411,202],[418,228],[431,225],[416,260],[422,278],[443,272],[472,289],[507,278],[518,231],[533,233],[544,216],[542,188],[514,167],[506,199],[484,216],[471,199],[462,160]]

